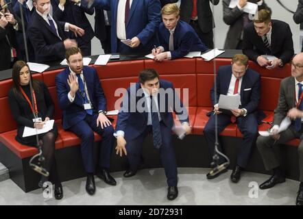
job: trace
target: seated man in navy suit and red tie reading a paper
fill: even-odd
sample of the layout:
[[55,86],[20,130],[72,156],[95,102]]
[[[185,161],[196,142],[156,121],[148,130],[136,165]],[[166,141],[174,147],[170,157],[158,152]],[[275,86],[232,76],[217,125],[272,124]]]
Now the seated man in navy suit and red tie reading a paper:
[[[220,66],[217,75],[217,96],[215,96],[214,87],[210,90],[210,97],[214,105],[214,114],[212,113],[206,127],[204,135],[209,147],[210,155],[214,155],[215,150],[215,114],[217,114],[217,133],[221,133],[225,127],[232,123],[237,123],[243,141],[241,149],[237,156],[237,165],[232,170],[230,178],[232,182],[237,183],[243,170],[250,159],[253,146],[258,136],[258,122],[256,112],[260,100],[260,75],[254,70],[248,68],[248,57],[242,54],[236,54],[232,57],[231,66]],[[239,109],[230,110],[222,113],[218,106],[220,94],[232,96],[240,95],[241,105]],[[222,151],[221,145],[218,145],[219,151]],[[219,164],[223,164],[225,159],[220,155]],[[218,177],[226,168],[221,171],[210,171],[208,179]]]

